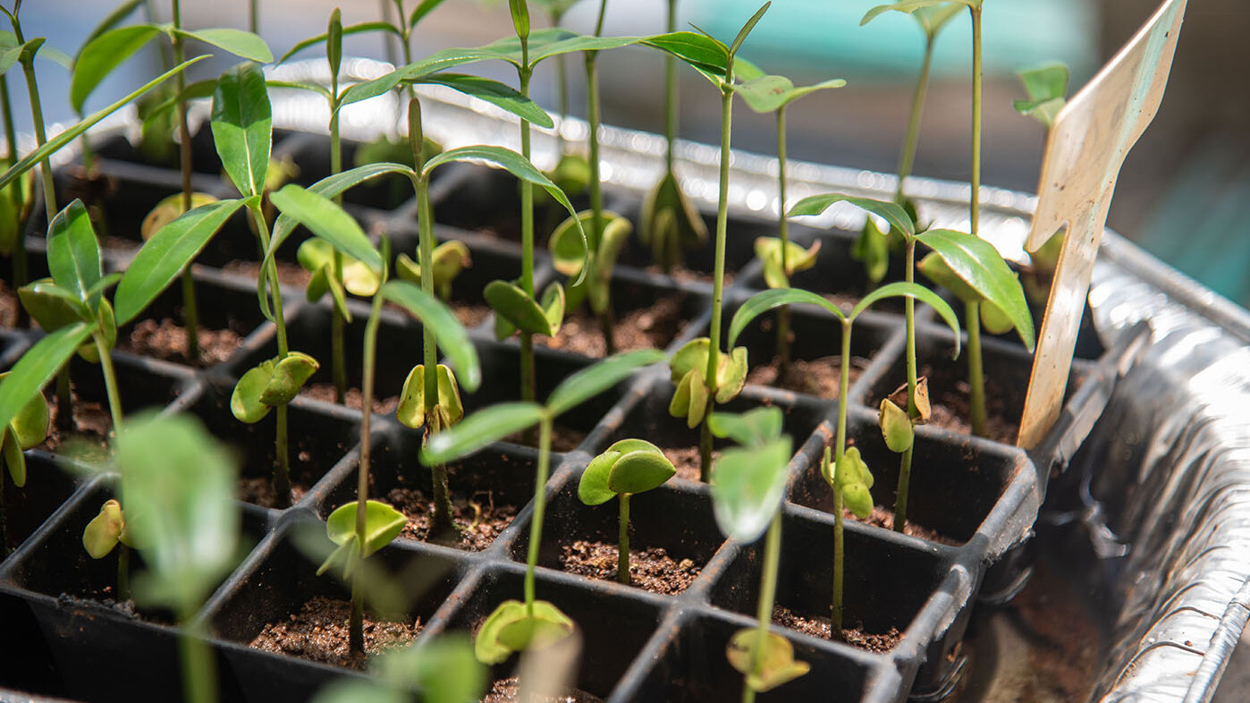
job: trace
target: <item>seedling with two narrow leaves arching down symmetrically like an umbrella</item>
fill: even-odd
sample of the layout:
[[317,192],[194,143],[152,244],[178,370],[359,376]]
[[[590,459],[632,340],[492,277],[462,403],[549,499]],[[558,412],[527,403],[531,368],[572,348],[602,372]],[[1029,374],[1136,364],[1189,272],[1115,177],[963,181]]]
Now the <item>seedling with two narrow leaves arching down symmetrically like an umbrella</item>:
[[[898,205],[895,205],[898,208]],[[899,209],[901,211],[901,208]],[[920,299],[921,301],[929,304],[935,310],[938,315],[945,321],[951,331],[955,333],[955,355],[959,355],[959,318],[955,316],[955,311],[950,309],[936,293],[914,283],[891,283],[878,288],[876,290],[869,293],[860,300],[855,308],[848,314],[842,313],[841,308],[830,303],[821,295],[802,290],[801,288],[781,288],[774,290],[764,290],[756,293],[741,308],[734,314],[732,321],[729,325],[729,340],[730,344],[738,339],[738,335],[746,328],[746,325],[762,313],[778,308],[780,305],[788,304],[809,304],[818,305],[842,323],[842,349],[841,349],[841,377],[840,388],[841,394],[839,395],[838,403],[838,435],[834,440],[835,457],[830,459],[829,448],[825,448],[825,455],[820,464],[820,475],[824,477],[829,488],[834,492],[834,600],[831,609],[831,628],[835,635],[840,637],[842,630],[842,507],[845,505],[854,513],[858,518],[864,519],[872,512],[872,497],[869,494],[869,489],[872,488],[872,474],[868,470],[868,465],[859,455],[859,449],[851,447],[846,448],[846,407],[849,404],[848,398],[850,395],[850,358],[851,358],[851,329],[855,324],[855,319],[868,310],[869,306],[884,300],[886,298],[908,298],[909,301],[912,298]],[[886,444],[890,449],[896,452],[908,452],[910,457],[911,442],[911,420],[906,413],[899,410],[901,414],[901,420],[906,424],[908,442],[906,447],[902,447],[901,442],[891,443],[895,433],[901,432],[898,429],[899,418],[890,414],[889,422],[886,422],[888,414],[885,404],[882,403],[882,428],[888,427]],[[896,448],[898,447],[898,448]],[[910,464],[909,464],[910,467]],[[715,490],[715,489],[714,489]],[[904,498],[900,500],[896,509],[901,507],[904,513],[906,512],[906,487],[902,479],[899,482],[900,495]],[[901,532],[899,525],[902,524],[900,518],[895,518],[895,529]]]

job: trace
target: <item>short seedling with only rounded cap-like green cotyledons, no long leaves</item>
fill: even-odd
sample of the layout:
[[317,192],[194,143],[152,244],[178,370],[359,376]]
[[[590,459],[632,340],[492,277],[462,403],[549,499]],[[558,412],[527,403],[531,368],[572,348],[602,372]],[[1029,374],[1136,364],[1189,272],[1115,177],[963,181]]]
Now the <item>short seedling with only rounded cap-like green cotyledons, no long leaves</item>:
[[586,505],[620,500],[616,580],[629,584],[629,499],[664,485],[678,469],[659,447],[645,439],[622,439],[594,458],[578,483],[578,499]]

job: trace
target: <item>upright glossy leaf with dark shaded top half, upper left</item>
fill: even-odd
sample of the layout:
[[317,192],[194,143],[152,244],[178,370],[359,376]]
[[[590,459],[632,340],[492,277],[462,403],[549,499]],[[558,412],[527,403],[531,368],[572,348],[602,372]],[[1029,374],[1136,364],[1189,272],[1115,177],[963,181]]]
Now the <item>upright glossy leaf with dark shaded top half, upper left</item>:
[[254,63],[221,74],[212,93],[212,141],[226,175],[244,196],[265,190],[272,116],[265,74]]

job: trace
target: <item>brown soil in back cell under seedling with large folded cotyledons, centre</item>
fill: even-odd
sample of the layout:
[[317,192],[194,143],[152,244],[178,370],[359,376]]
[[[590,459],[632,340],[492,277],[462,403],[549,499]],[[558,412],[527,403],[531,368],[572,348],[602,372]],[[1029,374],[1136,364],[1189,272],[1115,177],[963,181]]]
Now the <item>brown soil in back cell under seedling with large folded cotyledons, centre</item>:
[[[664,349],[685,325],[680,300],[674,296],[661,298],[649,308],[630,310],[620,319],[612,320],[615,350]],[[572,352],[582,357],[608,355],[602,325],[598,316],[584,308],[569,315],[554,338],[538,335],[535,339],[550,349]]]

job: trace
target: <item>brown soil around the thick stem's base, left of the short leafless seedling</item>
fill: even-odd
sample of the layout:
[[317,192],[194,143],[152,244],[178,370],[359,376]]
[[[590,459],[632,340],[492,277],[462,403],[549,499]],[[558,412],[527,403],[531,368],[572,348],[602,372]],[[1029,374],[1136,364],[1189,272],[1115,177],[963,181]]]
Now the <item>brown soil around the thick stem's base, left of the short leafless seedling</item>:
[[469,498],[452,493],[451,518],[464,529],[456,530],[455,537],[450,539],[446,537],[430,539],[430,520],[434,517],[432,500],[426,499],[420,490],[395,488],[386,494],[386,502],[408,517],[408,524],[404,525],[400,537],[419,542],[435,542],[469,552],[481,552],[490,547],[499,533],[504,532],[504,528],[516,518],[516,505],[496,505],[489,492],[475,493]]

